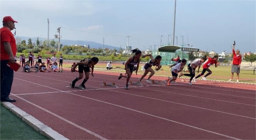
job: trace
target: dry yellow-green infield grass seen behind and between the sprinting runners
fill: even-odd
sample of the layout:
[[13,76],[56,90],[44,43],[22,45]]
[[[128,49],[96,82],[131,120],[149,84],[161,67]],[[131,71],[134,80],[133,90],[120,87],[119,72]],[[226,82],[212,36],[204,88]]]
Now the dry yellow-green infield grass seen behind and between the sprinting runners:
[[[141,65],[144,66],[144,64],[140,64],[140,68],[138,69],[138,73],[143,74],[143,71],[141,70]],[[71,68],[71,64],[64,64],[63,67],[66,68]],[[116,71],[116,72],[125,72],[124,68],[125,65],[122,64],[112,64],[113,69],[110,71]],[[120,67],[120,68],[118,68]],[[171,73],[169,71],[168,66],[162,66],[163,71],[155,71],[155,75],[162,75],[162,76],[171,76]],[[95,69],[100,69],[100,70],[106,70],[106,64],[97,64],[95,65]],[[214,66],[210,67],[212,74],[207,77],[207,79],[212,79],[212,80],[222,80],[222,81],[228,81],[231,76],[231,67],[229,66],[218,66],[215,68]],[[184,68],[185,70],[185,68]],[[196,70],[197,71],[197,70]],[[202,72],[202,67],[200,68],[200,72]],[[195,73],[197,76],[200,73]],[[205,72],[207,74],[207,72]],[[117,74],[118,75],[118,74]],[[187,76],[183,76],[187,77]],[[201,78],[201,77],[200,77]],[[236,73],[234,74],[233,81],[236,81]],[[253,75],[253,71],[240,71],[240,76],[239,76],[239,82],[248,82],[248,83],[256,83],[256,74]]]

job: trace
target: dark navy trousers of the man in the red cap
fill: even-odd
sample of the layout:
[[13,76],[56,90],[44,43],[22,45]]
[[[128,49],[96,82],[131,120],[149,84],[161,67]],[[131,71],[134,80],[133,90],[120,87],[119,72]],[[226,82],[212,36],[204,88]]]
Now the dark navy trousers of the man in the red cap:
[[13,70],[6,64],[9,60],[1,60],[1,100],[7,98],[10,95],[13,81]]

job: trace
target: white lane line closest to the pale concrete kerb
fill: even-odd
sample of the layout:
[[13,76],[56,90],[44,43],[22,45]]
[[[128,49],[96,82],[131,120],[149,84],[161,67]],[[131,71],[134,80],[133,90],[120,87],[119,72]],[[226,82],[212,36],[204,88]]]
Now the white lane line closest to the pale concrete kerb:
[[[64,91],[62,91],[62,92],[64,92]],[[59,116],[59,115],[57,115],[57,114],[55,114],[55,113],[49,111],[49,110],[47,110],[47,109],[44,109],[43,107],[40,107],[39,105],[36,105],[36,104],[34,104],[34,103],[32,103],[32,102],[30,102],[30,101],[28,101],[28,100],[26,100],[26,99],[24,99],[24,98],[22,98],[22,97],[19,97],[19,96],[16,96],[16,95],[13,95],[13,96],[15,96],[15,97],[17,97],[17,98],[19,98],[19,99],[21,99],[21,100],[24,100],[25,102],[27,102],[27,103],[29,103],[29,104],[31,104],[31,105],[34,105],[35,107],[37,107],[37,108],[39,108],[39,109],[42,109],[42,110],[44,110],[45,112],[47,112],[47,113],[49,113],[49,114],[51,114],[51,115],[54,115],[55,117],[57,117],[57,118],[63,120],[64,122],[67,122],[68,124],[71,124],[71,125],[73,125],[74,127],[77,127],[77,128],[79,128],[79,129],[81,129],[81,130],[83,130],[83,131],[85,131],[85,132],[87,132],[87,133],[89,133],[89,134],[91,134],[91,135],[93,135],[93,136],[95,136],[95,137],[101,139],[101,140],[107,140],[106,138],[100,136],[99,134],[94,133],[94,132],[92,132],[92,131],[90,131],[90,130],[84,128],[84,127],[81,127],[80,125],[77,125],[77,124],[75,124],[75,123],[73,123],[73,122],[71,122],[71,121],[69,121],[69,120],[67,120],[67,119],[65,119],[65,118],[63,118],[63,117],[61,117],[61,116]]]

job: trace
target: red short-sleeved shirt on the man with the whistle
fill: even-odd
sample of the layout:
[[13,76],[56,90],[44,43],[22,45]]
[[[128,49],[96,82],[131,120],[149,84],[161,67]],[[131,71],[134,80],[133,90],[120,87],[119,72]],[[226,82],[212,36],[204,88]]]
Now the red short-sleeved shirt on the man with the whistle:
[[9,56],[7,52],[5,51],[5,48],[3,46],[3,42],[10,43],[13,56],[16,55],[17,52],[17,46],[14,36],[12,35],[12,32],[6,28],[2,27],[0,28],[1,38],[0,38],[0,60],[9,60]]

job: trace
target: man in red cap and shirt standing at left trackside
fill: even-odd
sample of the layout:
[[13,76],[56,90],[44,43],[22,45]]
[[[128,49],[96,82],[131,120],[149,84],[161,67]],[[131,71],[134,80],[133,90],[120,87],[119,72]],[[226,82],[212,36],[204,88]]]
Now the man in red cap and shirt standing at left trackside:
[[12,88],[13,70],[7,66],[7,63],[15,63],[14,56],[16,55],[17,46],[12,30],[15,28],[11,16],[3,18],[3,27],[0,28],[0,66],[1,66],[1,101],[2,102],[16,102],[15,99],[10,99],[9,95]]

